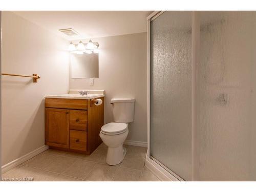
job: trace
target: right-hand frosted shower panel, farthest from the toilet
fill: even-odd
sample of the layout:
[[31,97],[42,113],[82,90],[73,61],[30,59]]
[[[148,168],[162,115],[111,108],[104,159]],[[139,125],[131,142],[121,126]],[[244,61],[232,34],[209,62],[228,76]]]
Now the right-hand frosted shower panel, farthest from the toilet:
[[255,48],[255,12],[200,12],[199,180],[256,180]]

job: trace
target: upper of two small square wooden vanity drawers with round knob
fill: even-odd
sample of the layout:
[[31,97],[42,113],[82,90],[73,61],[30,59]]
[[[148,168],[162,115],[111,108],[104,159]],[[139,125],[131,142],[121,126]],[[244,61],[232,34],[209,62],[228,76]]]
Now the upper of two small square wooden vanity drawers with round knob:
[[69,112],[69,129],[87,131],[88,112],[83,110],[70,110]]

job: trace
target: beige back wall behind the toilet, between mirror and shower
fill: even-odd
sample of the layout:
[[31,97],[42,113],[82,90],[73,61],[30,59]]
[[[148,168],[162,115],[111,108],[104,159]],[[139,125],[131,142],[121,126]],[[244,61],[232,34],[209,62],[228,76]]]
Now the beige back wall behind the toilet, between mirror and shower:
[[[70,89],[106,91],[104,123],[113,122],[111,98],[135,98],[134,122],[127,139],[147,141],[147,38],[146,33],[94,38],[99,47],[99,78],[70,79]],[[88,40],[83,40],[87,42]]]

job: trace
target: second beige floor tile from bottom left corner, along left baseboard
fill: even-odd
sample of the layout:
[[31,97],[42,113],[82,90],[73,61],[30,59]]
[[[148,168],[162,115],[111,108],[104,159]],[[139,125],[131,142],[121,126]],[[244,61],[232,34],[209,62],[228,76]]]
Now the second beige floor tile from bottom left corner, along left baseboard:
[[24,162],[23,165],[42,169],[49,165],[56,157],[58,156],[49,153],[42,153]]

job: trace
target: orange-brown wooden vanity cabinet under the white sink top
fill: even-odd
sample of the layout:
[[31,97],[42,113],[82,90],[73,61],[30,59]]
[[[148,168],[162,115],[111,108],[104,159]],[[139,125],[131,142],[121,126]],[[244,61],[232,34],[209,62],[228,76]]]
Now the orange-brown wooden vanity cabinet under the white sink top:
[[49,148],[91,154],[101,143],[104,97],[91,99],[46,98],[45,139]]

